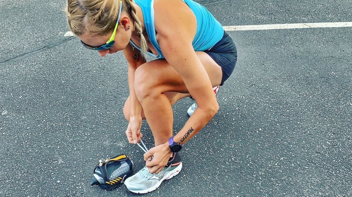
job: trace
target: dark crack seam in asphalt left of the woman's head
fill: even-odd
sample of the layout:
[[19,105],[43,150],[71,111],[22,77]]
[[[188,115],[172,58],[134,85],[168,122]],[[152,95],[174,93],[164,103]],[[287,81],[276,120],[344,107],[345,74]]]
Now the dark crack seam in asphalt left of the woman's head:
[[32,56],[36,53],[39,53],[41,51],[45,51],[47,49],[50,49],[51,47],[54,47],[54,46],[57,46],[57,45],[60,45],[68,40],[71,40],[73,39],[74,36],[71,36],[71,37],[63,37],[61,39],[58,39],[52,43],[49,43],[47,45],[44,45],[44,46],[40,46],[40,47],[37,47],[29,52],[26,52],[26,53],[23,53],[21,55],[18,55],[18,56],[15,56],[15,57],[12,57],[10,59],[6,59],[5,61],[2,61],[0,62],[0,66],[5,66],[6,64],[11,64],[11,63],[14,63],[14,62],[17,62],[19,61],[20,59],[23,59],[23,58],[26,58],[26,57],[29,57],[29,56]]

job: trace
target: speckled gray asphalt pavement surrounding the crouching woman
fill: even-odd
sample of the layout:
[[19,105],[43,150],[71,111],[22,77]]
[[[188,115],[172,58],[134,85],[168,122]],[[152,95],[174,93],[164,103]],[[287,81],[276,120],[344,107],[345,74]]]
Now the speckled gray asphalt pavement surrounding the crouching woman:
[[[352,21],[350,1],[198,2],[224,26]],[[0,196],[352,196],[351,27],[228,32],[239,56],[219,112],[180,174],[136,195],[89,185],[98,159],[126,153],[138,171],[143,152],[124,134],[126,60],[58,43],[64,5],[0,1]],[[174,133],[191,103],[174,105]]]

